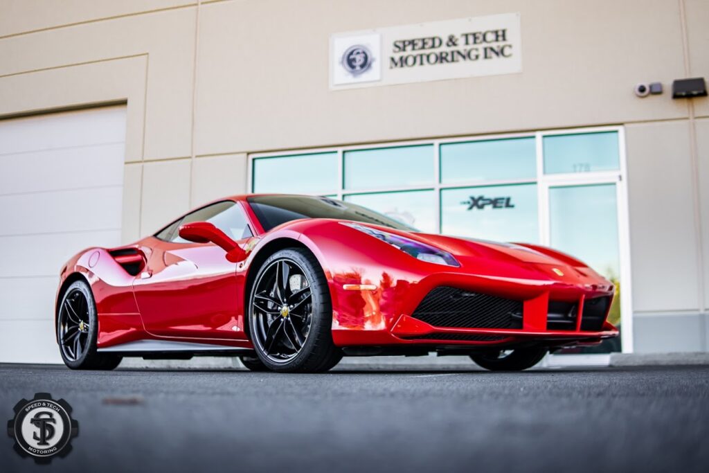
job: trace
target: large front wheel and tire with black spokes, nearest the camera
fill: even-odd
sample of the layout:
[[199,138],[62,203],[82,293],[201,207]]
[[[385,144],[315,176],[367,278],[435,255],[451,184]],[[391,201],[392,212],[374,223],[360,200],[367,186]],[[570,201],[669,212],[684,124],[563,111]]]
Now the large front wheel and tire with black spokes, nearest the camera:
[[256,355],[275,372],[325,372],[342,359],[333,306],[318,260],[302,248],[275,252],[259,268],[248,301]]

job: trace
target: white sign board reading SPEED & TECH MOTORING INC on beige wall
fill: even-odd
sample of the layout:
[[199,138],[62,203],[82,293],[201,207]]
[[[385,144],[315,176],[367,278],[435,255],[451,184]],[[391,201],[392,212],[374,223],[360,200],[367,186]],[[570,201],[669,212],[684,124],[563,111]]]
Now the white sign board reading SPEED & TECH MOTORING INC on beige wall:
[[516,72],[522,72],[519,13],[330,37],[333,90]]

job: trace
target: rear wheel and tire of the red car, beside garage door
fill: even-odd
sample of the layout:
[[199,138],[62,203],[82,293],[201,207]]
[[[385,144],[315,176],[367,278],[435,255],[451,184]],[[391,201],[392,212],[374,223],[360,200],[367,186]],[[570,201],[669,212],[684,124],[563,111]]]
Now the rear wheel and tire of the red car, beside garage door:
[[118,355],[96,352],[99,318],[89,284],[76,281],[62,294],[57,314],[57,343],[64,364],[71,369],[114,369]]

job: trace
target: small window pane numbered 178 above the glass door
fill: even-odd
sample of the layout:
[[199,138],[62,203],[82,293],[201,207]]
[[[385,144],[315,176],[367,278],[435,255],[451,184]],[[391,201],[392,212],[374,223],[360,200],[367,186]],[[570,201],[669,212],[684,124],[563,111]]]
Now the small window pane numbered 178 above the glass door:
[[596,172],[618,169],[618,133],[575,133],[543,138],[544,172]]

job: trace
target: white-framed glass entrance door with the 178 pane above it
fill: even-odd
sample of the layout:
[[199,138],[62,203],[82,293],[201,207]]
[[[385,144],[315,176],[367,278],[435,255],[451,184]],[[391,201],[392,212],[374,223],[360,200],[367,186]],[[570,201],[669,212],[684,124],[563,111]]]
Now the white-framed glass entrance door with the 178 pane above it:
[[[627,289],[630,277],[621,133],[543,133],[537,166],[542,243],[578,257],[615,284],[608,321],[623,334],[630,330],[630,324],[623,323],[630,319],[630,300],[623,298],[622,289]],[[566,352],[607,353],[622,348],[616,338]]]

